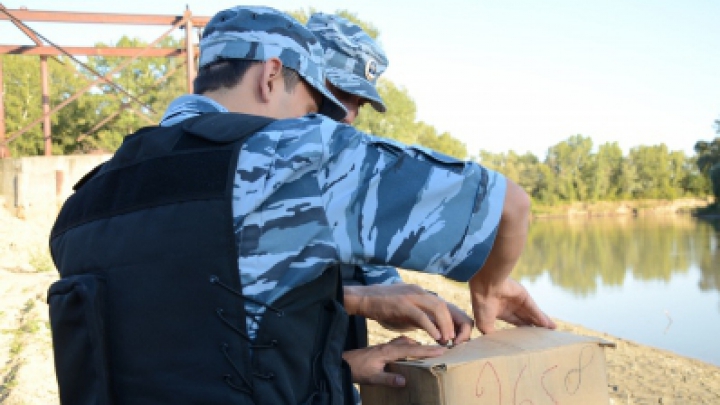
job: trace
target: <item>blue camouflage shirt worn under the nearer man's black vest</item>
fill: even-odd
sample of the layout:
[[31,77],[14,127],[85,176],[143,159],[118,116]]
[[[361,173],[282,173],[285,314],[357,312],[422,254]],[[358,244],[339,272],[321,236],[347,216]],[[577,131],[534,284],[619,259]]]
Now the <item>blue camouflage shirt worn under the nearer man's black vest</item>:
[[[182,96],[161,125],[212,111],[227,110]],[[476,163],[323,115],[275,121],[248,138],[237,163],[232,209],[243,293],[271,304],[336,264],[467,281],[490,252],[505,187],[502,175]],[[263,310],[250,301],[246,309],[254,336]]]

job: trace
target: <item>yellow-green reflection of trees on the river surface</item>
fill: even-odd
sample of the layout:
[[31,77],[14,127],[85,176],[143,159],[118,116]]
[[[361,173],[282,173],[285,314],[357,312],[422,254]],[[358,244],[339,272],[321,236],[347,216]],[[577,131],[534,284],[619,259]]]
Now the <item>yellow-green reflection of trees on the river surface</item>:
[[599,286],[622,286],[625,278],[669,282],[691,267],[698,287],[720,291],[720,221],[689,216],[534,220],[515,270],[552,283],[576,296]]

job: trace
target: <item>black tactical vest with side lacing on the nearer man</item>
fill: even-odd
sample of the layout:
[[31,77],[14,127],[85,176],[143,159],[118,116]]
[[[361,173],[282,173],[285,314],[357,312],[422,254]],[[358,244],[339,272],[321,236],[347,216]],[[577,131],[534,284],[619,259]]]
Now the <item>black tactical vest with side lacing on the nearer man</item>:
[[144,128],[78,183],[50,237],[63,404],[347,400],[336,268],[267,306],[247,337],[231,197],[244,140],[271,121],[204,114]]

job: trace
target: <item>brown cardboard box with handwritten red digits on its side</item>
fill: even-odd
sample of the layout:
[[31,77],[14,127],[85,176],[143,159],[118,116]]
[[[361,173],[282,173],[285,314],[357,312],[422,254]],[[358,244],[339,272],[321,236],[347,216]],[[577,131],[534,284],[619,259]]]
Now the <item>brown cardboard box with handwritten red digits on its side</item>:
[[361,386],[363,405],[607,405],[602,339],[542,328],[481,336],[425,360],[388,365],[405,388]]

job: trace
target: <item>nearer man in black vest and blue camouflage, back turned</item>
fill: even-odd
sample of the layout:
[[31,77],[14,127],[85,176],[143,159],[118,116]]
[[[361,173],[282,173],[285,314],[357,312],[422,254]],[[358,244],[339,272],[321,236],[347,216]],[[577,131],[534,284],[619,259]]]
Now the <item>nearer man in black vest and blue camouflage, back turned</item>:
[[[343,291],[341,264],[468,281],[482,332],[495,319],[554,327],[508,277],[527,228],[518,186],[330,119],[345,110],[322,49],[277,10],[224,10],[200,47],[196,95],[128,136],[53,227],[64,404],[342,404],[346,311],[455,339],[430,294]],[[347,358],[352,380],[402,385],[383,372],[387,351],[442,352],[386,347]]]

